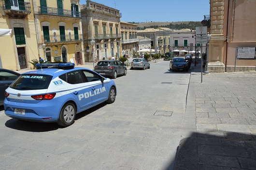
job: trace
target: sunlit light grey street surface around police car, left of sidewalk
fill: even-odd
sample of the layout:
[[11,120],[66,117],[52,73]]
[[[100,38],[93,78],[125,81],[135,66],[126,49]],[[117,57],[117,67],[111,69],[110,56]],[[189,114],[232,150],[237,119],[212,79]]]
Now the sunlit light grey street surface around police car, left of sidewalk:
[[9,118],[0,107],[0,169],[173,170],[185,132],[189,72],[169,61],[114,79],[116,101],[77,115],[75,123]]

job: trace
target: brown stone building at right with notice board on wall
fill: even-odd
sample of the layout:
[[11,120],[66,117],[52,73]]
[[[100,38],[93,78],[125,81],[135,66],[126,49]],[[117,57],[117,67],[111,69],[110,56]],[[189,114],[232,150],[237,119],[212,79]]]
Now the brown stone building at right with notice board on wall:
[[256,0],[210,0],[209,72],[256,70],[255,7]]

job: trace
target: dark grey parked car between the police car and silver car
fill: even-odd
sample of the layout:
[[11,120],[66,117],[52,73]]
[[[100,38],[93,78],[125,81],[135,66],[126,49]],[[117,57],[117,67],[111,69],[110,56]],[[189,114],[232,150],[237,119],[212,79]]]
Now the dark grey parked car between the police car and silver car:
[[119,60],[102,60],[94,66],[94,71],[104,77],[116,78],[117,75],[127,74],[126,66]]

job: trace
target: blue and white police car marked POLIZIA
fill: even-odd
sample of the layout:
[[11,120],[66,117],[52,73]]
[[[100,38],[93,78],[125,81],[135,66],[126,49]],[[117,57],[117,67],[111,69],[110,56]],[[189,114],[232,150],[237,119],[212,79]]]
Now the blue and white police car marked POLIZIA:
[[20,120],[70,126],[77,113],[102,102],[114,103],[113,80],[72,63],[37,64],[5,91],[4,112]]

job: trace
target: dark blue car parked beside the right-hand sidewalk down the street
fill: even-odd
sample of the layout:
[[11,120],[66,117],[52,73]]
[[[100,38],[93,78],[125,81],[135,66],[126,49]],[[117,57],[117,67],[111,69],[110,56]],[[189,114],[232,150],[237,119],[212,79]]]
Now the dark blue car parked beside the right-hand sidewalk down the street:
[[175,57],[170,61],[170,70],[171,71],[188,71],[190,65],[186,62],[185,58]]

